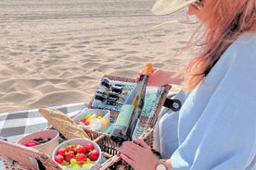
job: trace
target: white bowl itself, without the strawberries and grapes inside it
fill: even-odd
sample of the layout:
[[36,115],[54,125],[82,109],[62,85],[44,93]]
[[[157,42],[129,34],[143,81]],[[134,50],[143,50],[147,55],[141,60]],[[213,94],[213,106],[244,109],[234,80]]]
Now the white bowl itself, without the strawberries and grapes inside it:
[[[97,158],[97,160],[96,160],[96,162],[95,162],[95,164],[93,164],[93,165],[91,165],[89,168],[83,168],[83,169],[86,169],[86,170],[94,170],[94,169],[97,169],[99,166],[100,166],[100,159],[101,159],[101,149],[100,149],[100,147],[98,146],[98,144],[95,142],[95,141],[93,141],[93,140],[87,140],[87,139],[71,139],[71,140],[65,140],[65,141],[63,141],[62,143],[60,143],[58,146],[57,146],[57,148],[54,150],[54,152],[53,152],[53,154],[52,154],[52,159],[53,159],[53,161],[54,162],[56,162],[55,161],[55,156],[57,155],[57,152],[58,152],[58,149],[60,149],[60,148],[65,148],[65,147],[67,147],[68,145],[70,145],[70,144],[74,144],[74,145],[78,145],[78,144],[80,144],[80,145],[85,145],[85,144],[87,144],[87,143],[92,143],[93,145],[94,145],[94,148],[95,148],[95,150],[97,151],[97,152],[99,152],[99,156],[98,156],[98,158]],[[57,163],[57,162],[56,162]],[[58,163],[57,163],[58,164]],[[63,168],[63,169],[75,169],[75,168]],[[79,168],[79,169],[81,169],[81,168]]]

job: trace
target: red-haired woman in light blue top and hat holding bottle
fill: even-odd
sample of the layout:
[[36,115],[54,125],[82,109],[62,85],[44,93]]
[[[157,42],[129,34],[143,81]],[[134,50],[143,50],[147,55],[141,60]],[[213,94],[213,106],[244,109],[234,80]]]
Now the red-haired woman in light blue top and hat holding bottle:
[[[158,0],[153,12],[166,15],[184,6],[201,22],[203,38],[194,43],[202,50],[183,74],[184,91],[176,95],[181,110],[160,113],[154,134],[160,158],[140,139],[117,150],[135,170],[254,169],[256,1]],[[151,85],[176,81],[166,70],[149,74]]]

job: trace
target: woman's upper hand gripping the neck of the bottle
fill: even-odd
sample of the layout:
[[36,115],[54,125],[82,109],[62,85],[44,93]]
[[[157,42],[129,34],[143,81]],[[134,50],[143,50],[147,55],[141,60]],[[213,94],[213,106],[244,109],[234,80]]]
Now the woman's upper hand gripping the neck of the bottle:
[[[183,79],[177,78],[176,72],[167,71],[160,68],[153,68],[152,72],[148,73],[148,86],[164,86],[166,84],[181,85]],[[136,77],[136,82],[139,80],[141,73]]]

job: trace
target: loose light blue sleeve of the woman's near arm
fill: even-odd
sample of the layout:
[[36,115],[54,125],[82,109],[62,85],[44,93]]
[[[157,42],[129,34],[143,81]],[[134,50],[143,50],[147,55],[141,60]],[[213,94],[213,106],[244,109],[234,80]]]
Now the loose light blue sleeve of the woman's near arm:
[[[209,75],[219,81],[211,86],[207,78],[191,92],[184,105],[187,108],[180,113],[180,144],[171,157],[173,170],[255,168],[255,47],[255,40],[234,43]],[[209,88],[213,89],[211,95],[201,94]],[[193,105],[200,103],[205,103],[204,107],[193,110]],[[193,114],[198,116],[191,123]]]

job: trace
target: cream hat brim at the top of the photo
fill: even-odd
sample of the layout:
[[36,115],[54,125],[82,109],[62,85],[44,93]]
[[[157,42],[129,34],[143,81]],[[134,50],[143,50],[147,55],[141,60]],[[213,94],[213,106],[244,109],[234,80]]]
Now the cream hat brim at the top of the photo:
[[168,15],[197,1],[198,0],[157,0],[151,11],[155,15]]

